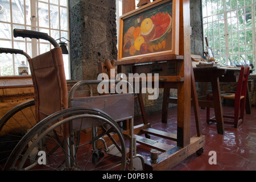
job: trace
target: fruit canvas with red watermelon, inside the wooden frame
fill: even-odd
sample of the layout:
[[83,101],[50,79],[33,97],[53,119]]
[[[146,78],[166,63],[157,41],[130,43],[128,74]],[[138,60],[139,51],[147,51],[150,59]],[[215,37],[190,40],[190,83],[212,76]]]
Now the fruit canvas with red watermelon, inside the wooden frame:
[[172,50],[172,1],[123,20],[122,57]]

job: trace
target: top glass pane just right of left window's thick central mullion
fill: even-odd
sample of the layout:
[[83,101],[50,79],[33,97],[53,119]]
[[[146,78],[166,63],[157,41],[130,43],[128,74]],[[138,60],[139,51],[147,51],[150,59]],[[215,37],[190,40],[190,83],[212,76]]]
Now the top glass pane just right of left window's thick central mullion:
[[38,10],[38,16],[39,16],[39,26],[40,27],[47,27],[49,28],[49,11],[48,11],[48,5],[46,3],[38,3],[39,10]]

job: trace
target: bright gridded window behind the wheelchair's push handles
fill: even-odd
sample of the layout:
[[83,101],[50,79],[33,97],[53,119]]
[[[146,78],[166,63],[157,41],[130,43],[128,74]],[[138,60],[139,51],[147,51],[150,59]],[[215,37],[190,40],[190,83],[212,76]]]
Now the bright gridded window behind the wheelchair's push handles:
[[[0,5],[0,47],[22,49],[31,57],[53,48],[46,40],[14,38],[14,28],[46,32],[55,40],[62,37],[69,40],[68,0],[0,0]],[[63,55],[63,59],[69,79],[69,55]],[[22,61],[28,65],[23,55],[1,53],[1,76],[18,75]]]

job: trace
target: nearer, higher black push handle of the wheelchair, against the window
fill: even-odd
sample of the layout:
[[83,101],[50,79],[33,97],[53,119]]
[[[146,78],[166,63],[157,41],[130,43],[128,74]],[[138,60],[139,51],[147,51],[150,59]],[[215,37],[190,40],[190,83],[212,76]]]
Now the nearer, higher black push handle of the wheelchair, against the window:
[[23,30],[15,28],[13,30],[14,37],[21,36],[22,38],[35,38],[35,39],[44,39],[48,40],[54,47],[59,47],[59,44],[51,36],[44,32],[32,31],[32,30]]

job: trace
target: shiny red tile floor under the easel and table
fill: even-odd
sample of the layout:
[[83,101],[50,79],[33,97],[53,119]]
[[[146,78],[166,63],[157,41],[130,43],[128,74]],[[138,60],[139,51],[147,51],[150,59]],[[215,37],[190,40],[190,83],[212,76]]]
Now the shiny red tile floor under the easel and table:
[[[224,106],[224,114],[233,114],[234,107]],[[161,122],[161,113],[148,115],[148,121],[153,129],[176,132],[177,109],[168,111],[168,123]],[[211,111],[213,114],[214,111]],[[193,154],[183,162],[173,167],[172,171],[254,171],[256,170],[256,107],[252,107],[251,114],[245,114],[244,122],[237,129],[233,125],[224,124],[225,134],[217,134],[216,123],[205,122],[206,110],[200,109],[201,129],[205,135],[204,153],[200,156]],[[142,123],[141,118],[135,118],[134,125]],[[196,135],[195,117],[191,109],[191,137]],[[168,144],[176,143],[167,139],[154,137]],[[150,158],[150,148],[137,144],[137,153],[146,159]],[[216,152],[217,164],[209,164],[209,151]]]

